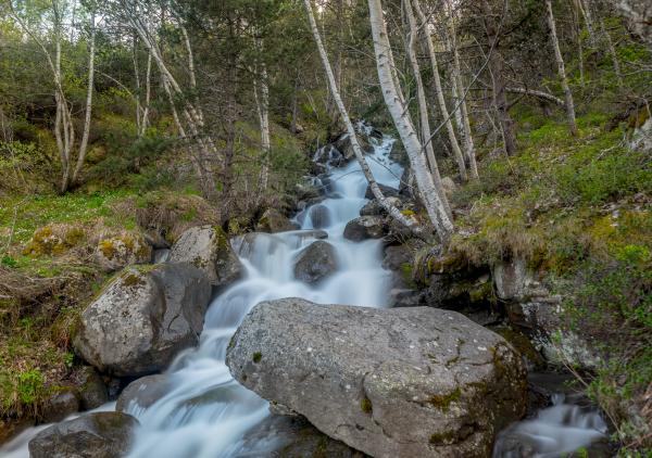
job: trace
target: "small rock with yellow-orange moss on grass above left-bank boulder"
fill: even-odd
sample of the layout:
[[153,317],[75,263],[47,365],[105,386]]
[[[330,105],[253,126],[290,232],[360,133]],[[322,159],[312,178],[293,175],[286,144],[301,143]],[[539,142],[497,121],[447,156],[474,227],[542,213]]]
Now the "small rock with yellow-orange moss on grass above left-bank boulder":
[[150,263],[152,247],[142,234],[123,232],[120,236],[101,238],[95,251],[95,258],[102,270],[112,272],[133,264]]

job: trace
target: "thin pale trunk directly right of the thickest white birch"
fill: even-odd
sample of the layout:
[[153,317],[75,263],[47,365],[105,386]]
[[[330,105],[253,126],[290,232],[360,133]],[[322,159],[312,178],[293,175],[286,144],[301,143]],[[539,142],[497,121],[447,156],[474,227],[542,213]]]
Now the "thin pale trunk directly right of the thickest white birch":
[[[419,114],[419,125],[422,130],[422,143],[426,145],[426,158],[428,160],[428,165],[430,167],[430,174],[432,175],[432,180],[435,181],[435,186],[439,191],[439,195],[442,196],[442,204],[446,208],[446,213],[449,218],[452,218],[451,207],[448,203],[448,199],[446,199],[446,193],[443,192],[443,186],[441,185],[441,176],[439,175],[439,166],[437,165],[437,157],[435,157],[435,149],[432,148],[432,142],[428,141],[431,136],[430,131],[430,119],[428,117],[428,105],[426,103],[426,91],[424,90],[424,81],[421,77],[421,67],[418,65],[418,61],[416,59],[416,37],[417,37],[417,27],[416,20],[414,18],[414,13],[412,11],[412,5],[410,4],[410,0],[403,0],[403,7],[405,10],[405,15],[408,16],[408,25],[410,27],[410,38],[408,40],[408,58],[410,60],[410,64],[412,65],[412,73],[414,74],[414,80],[416,82],[416,101],[418,105],[418,114]],[[427,143],[426,143],[427,142]]]

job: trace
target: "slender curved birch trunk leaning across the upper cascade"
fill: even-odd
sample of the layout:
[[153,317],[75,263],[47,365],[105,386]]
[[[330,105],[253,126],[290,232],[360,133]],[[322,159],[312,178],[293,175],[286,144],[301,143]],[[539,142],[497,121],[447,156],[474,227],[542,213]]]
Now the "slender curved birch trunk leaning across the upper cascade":
[[[378,203],[391,215],[392,218],[403,224],[404,226],[411,228],[415,232],[422,232],[422,228],[419,228],[413,219],[410,219],[408,216],[403,215],[396,206],[387,201],[385,195],[383,195],[383,191],[378,187],[372,170],[364,158],[364,154],[362,153],[362,148],[358,142],[358,136],[355,133],[355,128],[353,127],[353,123],[351,123],[351,118],[349,118],[349,113],[347,112],[347,107],[340,97],[339,89],[337,87],[337,81],[335,79],[335,75],[333,73],[333,68],[330,67],[330,62],[328,61],[328,54],[326,54],[326,49],[324,48],[324,43],[322,42],[322,36],[319,35],[319,29],[317,28],[317,23],[315,21],[315,16],[313,14],[311,0],[303,0],[305,4],[305,11],[308,12],[308,18],[310,21],[310,26],[317,44],[317,50],[319,51],[319,58],[322,59],[322,64],[324,65],[324,71],[326,72],[326,76],[328,78],[328,85],[330,87],[330,92],[333,94],[333,99],[335,100],[337,107],[340,112],[340,116],[342,117],[344,125],[347,126],[347,132],[349,133],[349,138],[351,139],[351,145],[353,147],[353,152],[355,153],[355,158],[362,168],[364,177],[369,183],[372,188],[372,192],[374,193],[374,198],[378,200]],[[425,162],[423,166],[425,167]],[[429,176],[429,174],[428,174]]]

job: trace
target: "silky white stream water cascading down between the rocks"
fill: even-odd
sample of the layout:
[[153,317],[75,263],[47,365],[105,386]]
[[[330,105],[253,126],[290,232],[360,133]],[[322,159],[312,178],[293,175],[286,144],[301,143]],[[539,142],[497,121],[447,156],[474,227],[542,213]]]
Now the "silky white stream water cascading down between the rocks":
[[[361,126],[364,128],[364,126]],[[375,151],[367,156],[369,166],[381,185],[398,188],[402,168],[389,160],[393,139],[373,139]],[[258,234],[235,241],[234,247],[246,267],[246,276],[220,294],[211,304],[204,330],[197,348],[179,355],[167,370],[167,394],[147,409],[130,406],[130,414],[141,423],[136,434],[131,458],[216,458],[262,456],[278,444],[274,437],[264,441],[247,441],[244,435],[255,429],[268,414],[268,404],[254,393],[240,386],[231,378],[225,365],[226,347],[238,325],[259,302],[281,297],[303,297],[324,304],[351,304],[360,306],[387,306],[391,273],[381,266],[381,243],[368,240],[360,243],[343,238],[348,221],[359,216],[367,183],[355,161],[343,167],[329,167],[324,185],[328,190],[326,200],[319,204],[326,208],[327,224],[322,217],[313,224],[310,207],[296,220],[301,230]],[[297,255],[311,244],[318,226],[327,233],[325,239],[337,254],[337,270],[315,287],[297,281],[293,265]],[[563,406],[563,405],[562,405]],[[565,407],[564,407],[565,408]],[[557,421],[560,416],[553,407],[542,411],[536,420],[521,422],[515,431],[526,437],[528,431],[537,444],[546,445],[542,455],[554,456],[582,446],[595,437],[600,425],[587,423],[586,415],[572,416],[572,421]],[[556,409],[556,410],[555,410]],[[519,428],[519,429],[518,429]],[[572,443],[564,441],[568,429],[582,430]],[[26,444],[36,429],[17,437],[0,456],[23,458],[27,456]],[[588,431],[588,432],[587,432]],[[550,445],[556,441],[556,446]],[[560,444],[562,442],[563,444]],[[11,455],[9,451],[11,448]],[[552,453],[553,455],[550,455]],[[512,456],[500,451],[496,457]]]

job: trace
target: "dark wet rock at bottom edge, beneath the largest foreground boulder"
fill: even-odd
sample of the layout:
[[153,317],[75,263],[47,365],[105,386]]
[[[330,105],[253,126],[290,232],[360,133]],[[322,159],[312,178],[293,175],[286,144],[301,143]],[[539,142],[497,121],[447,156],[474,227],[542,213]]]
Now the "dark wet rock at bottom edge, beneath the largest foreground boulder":
[[318,431],[301,416],[272,415],[249,431],[237,458],[365,458]]

